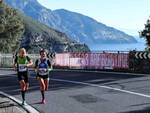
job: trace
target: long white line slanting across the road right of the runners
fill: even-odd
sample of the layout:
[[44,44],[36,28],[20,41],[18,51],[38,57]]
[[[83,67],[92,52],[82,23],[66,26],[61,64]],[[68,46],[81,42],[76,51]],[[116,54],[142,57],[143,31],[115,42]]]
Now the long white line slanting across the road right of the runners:
[[78,81],[71,81],[71,80],[63,80],[63,79],[52,79],[51,78],[51,80],[59,81],[59,82],[69,82],[69,83],[74,83],[74,84],[82,84],[82,85],[88,85],[88,86],[105,88],[105,89],[111,89],[111,90],[120,91],[120,92],[124,92],[124,93],[128,93],[128,94],[132,94],[132,95],[137,95],[137,96],[141,96],[141,97],[150,98],[150,95],[145,95],[145,94],[142,94],[142,93],[136,93],[136,92],[132,92],[132,91],[128,91],[128,90],[122,90],[122,89],[119,89],[119,88],[113,88],[113,87],[109,87],[109,86],[96,85],[96,84],[78,82]]

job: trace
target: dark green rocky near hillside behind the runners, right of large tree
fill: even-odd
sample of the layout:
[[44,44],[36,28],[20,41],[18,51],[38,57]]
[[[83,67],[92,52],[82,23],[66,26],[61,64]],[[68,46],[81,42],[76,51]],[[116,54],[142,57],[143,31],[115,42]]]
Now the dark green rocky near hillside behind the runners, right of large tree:
[[18,15],[24,23],[25,33],[21,39],[21,46],[28,52],[39,53],[41,49],[53,52],[83,52],[90,51],[85,44],[69,39],[64,33],[52,29],[38,21],[19,12]]

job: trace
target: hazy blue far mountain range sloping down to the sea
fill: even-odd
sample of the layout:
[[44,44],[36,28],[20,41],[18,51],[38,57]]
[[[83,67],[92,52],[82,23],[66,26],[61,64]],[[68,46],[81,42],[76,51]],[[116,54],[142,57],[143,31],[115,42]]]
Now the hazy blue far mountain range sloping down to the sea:
[[28,16],[62,32],[81,43],[136,43],[134,37],[115,28],[108,27],[79,13],[64,9],[50,10],[37,0],[6,0],[6,2]]

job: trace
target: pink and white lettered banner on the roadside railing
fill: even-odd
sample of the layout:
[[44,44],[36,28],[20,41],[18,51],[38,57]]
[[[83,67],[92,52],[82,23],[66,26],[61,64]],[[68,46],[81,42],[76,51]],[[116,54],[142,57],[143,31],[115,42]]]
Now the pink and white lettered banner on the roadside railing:
[[129,68],[128,53],[56,53],[56,66]]

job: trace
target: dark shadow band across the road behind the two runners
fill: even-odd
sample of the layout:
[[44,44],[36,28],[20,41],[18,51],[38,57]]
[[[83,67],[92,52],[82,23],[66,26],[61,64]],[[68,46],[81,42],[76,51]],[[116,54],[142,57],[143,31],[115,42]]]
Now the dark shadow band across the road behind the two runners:
[[[9,72],[10,73],[10,72]],[[12,77],[11,77],[12,76]],[[139,78],[143,76],[139,75],[127,75],[127,74],[117,74],[117,73],[94,73],[94,72],[66,72],[66,71],[52,71],[50,72],[50,78],[53,79],[63,79],[70,81],[86,82],[92,84],[106,84],[119,80]],[[36,75],[34,71],[30,71],[29,77],[29,92],[40,90],[39,83],[36,80]],[[50,80],[49,90],[60,90],[72,87],[85,87],[81,84],[66,83],[60,81]],[[1,91],[8,93],[10,95],[20,94],[20,84],[17,79],[17,75],[5,75],[0,76],[0,89]]]

